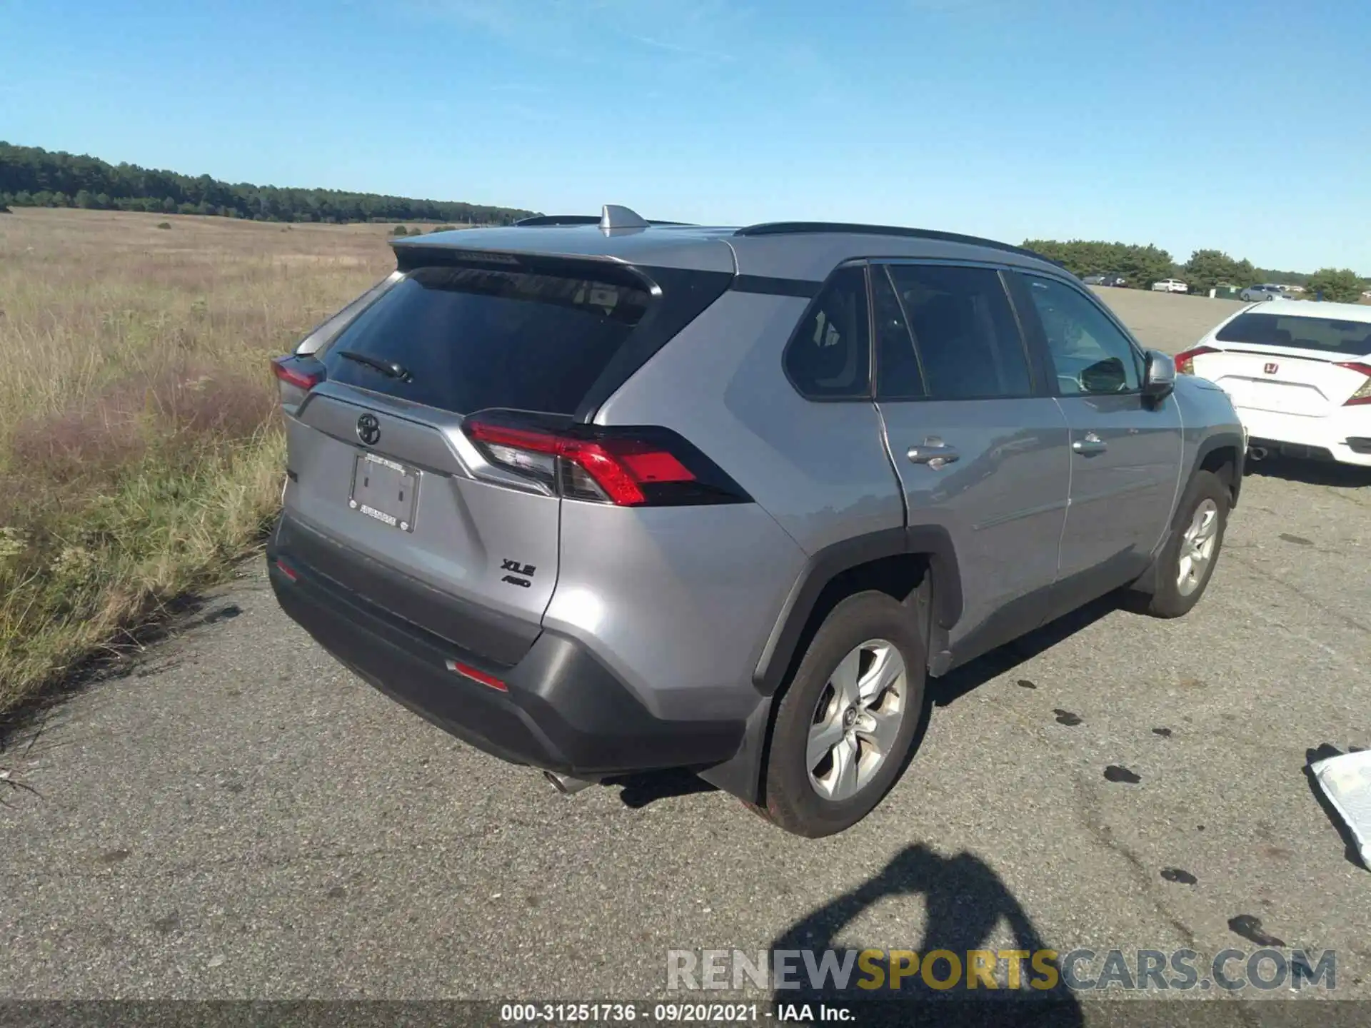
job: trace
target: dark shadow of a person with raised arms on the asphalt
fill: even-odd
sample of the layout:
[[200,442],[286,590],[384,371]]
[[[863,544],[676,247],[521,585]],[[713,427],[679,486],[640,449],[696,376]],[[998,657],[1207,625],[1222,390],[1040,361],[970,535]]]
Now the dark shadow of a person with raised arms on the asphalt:
[[[905,949],[919,954],[919,959],[932,950],[947,950],[962,962],[956,986],[945,991],[930,988],[921,977],[910,975],[898,990],[861,990],[856,983],[871,980],[854,965],[846,990],[834,990],[831,980],[824,988],[812,988],[803,959],[794,962],[798,973],[792,980],[799,988],[776,988],[772,999],[777,1003],[835,1005],[869,1003],[856,1009],[857,1023],[869,1024],[958,1024],[958,1025],[1072,1025],[1084,1024],[1080,1003],[1063,987],[1031,990],[1028,981],[1043,980],[1030,962],[1023,964],[1021,988],[969,991],[965,986],[965,962],[969,950],[998,949],[991,939],[1004,924],[1013,939],[1013,947],[1034,954],[1049,949],[1027,911],[1005,887],[991,868],[969,853],[942,857],[923,843],[901,850],[875,877],[857,888],[829,901],[797,921],[772,942],[772,950],[810,950],[818,961],[824,950],[862,949],[862,944],[839,944],[838,936],[862,911],[887,896],[923,896],[927,916],[923,938],[914,944],[906,939],[882,939],[869,943],[875,950]],[[877,966],[884,966],[879,961]],[[1054,962],[1052,966],[1056,966]],[[938,961],[936,975],[949,976],[950,966]],[[1004,977],[998,977],[1001,986]],[[888,979],[884,983],[888,986]],[[875,1001],[875,1002],[873,1002]],[[913,1003],[913,1005],[912,1005]]]

